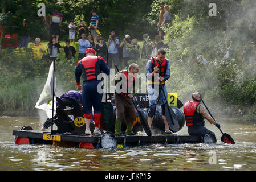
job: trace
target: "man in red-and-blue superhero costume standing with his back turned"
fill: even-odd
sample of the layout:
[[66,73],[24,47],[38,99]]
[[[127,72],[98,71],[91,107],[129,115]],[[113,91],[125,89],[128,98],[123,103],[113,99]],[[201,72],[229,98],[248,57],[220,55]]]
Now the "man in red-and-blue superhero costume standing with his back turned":
[[[92,48],[86,49],[86,57],[78,61],[75,69],[76,85],[78,90],[82,89],[80,77],[83,74],[83,114],[86,121],[86,135],[91,135],[90,121],[92,118],[92,106],[94,107],[94,122],[95,129],[93,134],[101,134],[100,132],[100,117],[101,117],[101,100],[102,93],[97,91],[97,85],[101,84],[101,80],[97,80],[97,76],[103,71],[109,75],[105,60],[100,56],[95,56],[95,51]],[[103,85],[102,85],[103,86]],[[101,86],[101,88],[102,88]]]

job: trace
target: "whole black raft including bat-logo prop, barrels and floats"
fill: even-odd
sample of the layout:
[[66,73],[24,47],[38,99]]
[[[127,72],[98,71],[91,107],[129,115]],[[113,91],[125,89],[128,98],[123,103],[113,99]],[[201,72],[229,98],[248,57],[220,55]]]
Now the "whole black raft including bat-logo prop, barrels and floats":
[[[68,98],[72,101],[71,109],[66,106],[57,107],[57,118],[53,119],[57,130],[41,131],[34,130],[30,126],[23,126],[21,130],[13,130],[15,136],[15,144],[57,144],[65,147],[79,148],[123,148],[127,146],[143,146],[150,144],[179,144],[179,143],[210,143],[216,139],[211,136],[190,136],[190,135],[164,135],[164,121],[161,115],[161,106],[157,105],[156,114],[152,122],[151,130],[154,130],[152,136],[144,134],[139,114],[135,110],[135,122],[133,125],[133,133],[135,135],[115,136],[115,118],[116,107],[111,102],[104,102],[101,108],[101,135],[85,135],[85,125],[82,113],[82,107],[74,98]],[[57,98],[58,100],[58,98]],[[60,103],[60,102],[59,102]],[[185,123],[184,113],[174,106],[170,106],[173,110],[174,117],[177,118],[178,128],[182,129]],[[148,108],[138,108],[141,117],[147,121]],[[72,115],[72,120],[68,115]],[[50,120],[51,119],[47,119]],[[123,122],[122,131],[125,132],[126,126]],[[94,123],[90,123],[91,132],[94,131]],[[172,128],[170,128],[172,130]]]

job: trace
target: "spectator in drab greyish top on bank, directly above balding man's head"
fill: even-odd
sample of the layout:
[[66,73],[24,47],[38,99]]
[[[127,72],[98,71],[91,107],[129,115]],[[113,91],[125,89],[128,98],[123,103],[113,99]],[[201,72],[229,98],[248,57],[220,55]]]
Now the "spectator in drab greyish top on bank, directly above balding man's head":
[[123,48],[124,66],[128,67],[128,60],[132,60],[133,58],[131,51],[129,50],[134,47],[128,34],[124,36],[123,42],[121,42],[120,47]]

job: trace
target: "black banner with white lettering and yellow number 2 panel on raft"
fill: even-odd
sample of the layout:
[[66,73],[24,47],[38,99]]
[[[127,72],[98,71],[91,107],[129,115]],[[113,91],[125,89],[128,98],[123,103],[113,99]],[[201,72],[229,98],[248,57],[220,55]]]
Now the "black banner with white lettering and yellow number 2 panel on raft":
[[[168,103],[174,107],[177,107],[177,93],[168,93]],[[108,93],[108,99],[115,103],[114,94]],[[133,101],[140,108],[149,108],[149,100],[147,93],[138,93],[133,97]],[[159,99],[157,99],[157,104],[160,104]]]

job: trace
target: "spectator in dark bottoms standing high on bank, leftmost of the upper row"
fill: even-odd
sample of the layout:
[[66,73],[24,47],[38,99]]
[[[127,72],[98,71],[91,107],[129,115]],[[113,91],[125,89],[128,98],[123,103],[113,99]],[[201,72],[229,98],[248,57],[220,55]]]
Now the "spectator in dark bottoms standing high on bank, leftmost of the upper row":
[[59,39],[60,35],[60,26],[62,24],[63,14],[58,12],[57,9],[55,9],[54,12],[52,12],[52,15],[50,17],[50,34],[52,37],[56,37],[56,39]]

